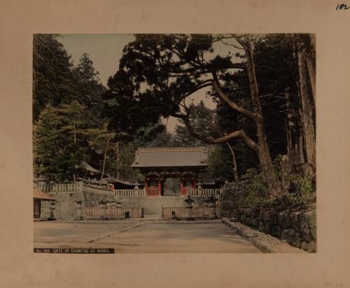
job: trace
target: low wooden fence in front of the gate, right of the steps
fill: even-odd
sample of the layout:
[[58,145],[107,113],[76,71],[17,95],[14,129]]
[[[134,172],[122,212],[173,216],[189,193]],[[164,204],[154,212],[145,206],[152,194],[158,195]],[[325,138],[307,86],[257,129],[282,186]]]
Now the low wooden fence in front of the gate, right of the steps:
[[186,218],[186,217],[209,217],[209,216],[217,216],[218,210],[216,207],[175,207],[162,208],[162,218]]

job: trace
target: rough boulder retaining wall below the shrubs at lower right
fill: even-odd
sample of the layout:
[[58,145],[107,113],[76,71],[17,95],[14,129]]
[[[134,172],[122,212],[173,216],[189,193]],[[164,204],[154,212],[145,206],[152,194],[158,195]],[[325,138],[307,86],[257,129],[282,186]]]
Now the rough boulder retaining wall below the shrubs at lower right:
[[316,211],[282,211],[259,208],[237,208],[235,219],[259,231],[268,233],[290,245],[316,252]]

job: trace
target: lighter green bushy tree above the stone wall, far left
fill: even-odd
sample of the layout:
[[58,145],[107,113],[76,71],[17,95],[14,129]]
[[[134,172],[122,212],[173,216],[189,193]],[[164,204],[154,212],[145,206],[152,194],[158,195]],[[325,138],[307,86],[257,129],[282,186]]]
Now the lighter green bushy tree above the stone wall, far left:
[[83,106],[46,106],[34,124],[34,172],[48,181],[73,180],[83,173]]

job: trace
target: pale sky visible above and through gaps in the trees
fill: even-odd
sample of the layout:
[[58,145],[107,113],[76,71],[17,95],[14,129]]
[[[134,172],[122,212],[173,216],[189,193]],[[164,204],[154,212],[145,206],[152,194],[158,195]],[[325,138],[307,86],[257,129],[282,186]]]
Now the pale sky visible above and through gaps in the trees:
[[[134,41],[132,34],[62,34],[59,41],[64,45],[64,48],[71,55],[74,65],[79,63],[80,57],[86,52],[90,60],[94,64],[94,69],[99,71],[99,78],[103,85],[107,85],[109,77],[113,76],[119,67],[119,60],[123,55],[123,48],[127,43]],[[229,42],[229,41],[227,41]],[[232,43],[232,41],[231,41]],[[234,43],[237,44],[237,43]],[[224,45],[223,43],[215,43],[213,55],[228,55],[228,51],[233,54],[239,52],[232,46]],[[216,108],[216,103],[206,96],[209,88],[204,88],[193,95],[194,103],[204,101],[205,106],[210,109]],[[179,121],[174,117],[162,119],[162,122],[167,125],[167,131],[174,132],[176,124]]]

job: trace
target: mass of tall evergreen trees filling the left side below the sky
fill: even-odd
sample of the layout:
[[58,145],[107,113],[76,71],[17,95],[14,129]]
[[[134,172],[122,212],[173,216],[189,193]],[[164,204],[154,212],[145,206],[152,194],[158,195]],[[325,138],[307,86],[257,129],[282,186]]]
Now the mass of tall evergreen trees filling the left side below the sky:
[[49,181],[75,180],[85,173],[82,161],[104,158],[89,146],[87,129],[106,122],[105,88],[86,53],[73,66],[59,35],[34,34],[33,57],[34,172]]

